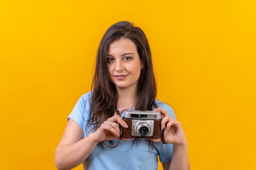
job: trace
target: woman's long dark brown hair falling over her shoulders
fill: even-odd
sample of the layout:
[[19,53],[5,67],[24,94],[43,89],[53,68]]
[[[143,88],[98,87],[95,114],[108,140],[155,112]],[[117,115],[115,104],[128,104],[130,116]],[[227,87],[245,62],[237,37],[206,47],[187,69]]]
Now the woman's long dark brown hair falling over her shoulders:
[[117,22],[110,26],[103,35],[97,51],[90,99],[92,117],[89,124],[92,125],[92,130],[97,130],[103,121],[112,117],[117,107],[117,89],[108,77],[107,51],[111,42],[121,38],[127,38],[135,44],[143,64],[137,85],[135,109],[151,110],[155,101],[157,88],[148,39],[145,33],[132,23],[127,21]]

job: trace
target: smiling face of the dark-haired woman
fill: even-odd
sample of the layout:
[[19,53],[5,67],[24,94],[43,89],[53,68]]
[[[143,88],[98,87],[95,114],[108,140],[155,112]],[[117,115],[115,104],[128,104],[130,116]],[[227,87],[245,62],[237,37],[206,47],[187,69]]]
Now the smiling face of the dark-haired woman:
[[135,91],[142,69],[135,44],[130,39],[116,40],[109,44],[107,58],[108,76],[117,89]]

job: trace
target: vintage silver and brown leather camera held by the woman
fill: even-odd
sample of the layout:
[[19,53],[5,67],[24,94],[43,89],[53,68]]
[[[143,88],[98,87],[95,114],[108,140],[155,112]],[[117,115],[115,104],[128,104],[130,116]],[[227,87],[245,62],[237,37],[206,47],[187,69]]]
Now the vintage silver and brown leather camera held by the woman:
[[128,128],[123,128],[121,135],[125,138],[153,138],[161,137],[161,121],[160,112],[145,110],[128,110],[123,120]]

